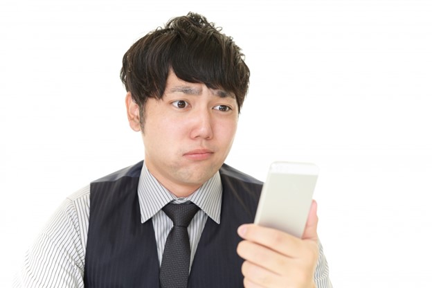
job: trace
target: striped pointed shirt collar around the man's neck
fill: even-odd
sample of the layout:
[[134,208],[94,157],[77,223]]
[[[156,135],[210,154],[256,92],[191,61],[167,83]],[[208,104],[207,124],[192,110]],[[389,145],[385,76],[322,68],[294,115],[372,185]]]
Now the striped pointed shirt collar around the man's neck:
[[192,201],[201,208],[208,217],[213,219],[214,222],[220,224],[222,181],[219,171],[193,192],[192,195],[186,198],[177,198],[154,178],[144,164],[138,181],[138,201],[141,210],[141,223],[152,218],[163,206],[171,201]]

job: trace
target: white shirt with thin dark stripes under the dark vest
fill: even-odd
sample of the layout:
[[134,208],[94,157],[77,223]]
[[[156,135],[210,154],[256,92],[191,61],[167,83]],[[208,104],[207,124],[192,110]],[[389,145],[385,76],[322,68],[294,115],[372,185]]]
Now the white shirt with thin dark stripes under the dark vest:
[[[161,208],[173,201],[192,201],[200,210],[190,222],[192,264],[197,251],[199,237],[204,230],[207,217],[220,223],[222,206],[222,181],[217,172],[189,197],[177,198],[145,168],[138,181],[138,201],[141,209],[141,222],[152,218],[156,238],[159,264],[161,264],[166,238],[173,224]],[[48,221],[42,233],[30,247],[24,265],[15,278],[12,287],[82,287],[84,288],[85,247],[90,213],[90,186],[68,197]],[[332,287],[328,279],[328,267],[323,249],[316,267],[315,281],[318,288]]]

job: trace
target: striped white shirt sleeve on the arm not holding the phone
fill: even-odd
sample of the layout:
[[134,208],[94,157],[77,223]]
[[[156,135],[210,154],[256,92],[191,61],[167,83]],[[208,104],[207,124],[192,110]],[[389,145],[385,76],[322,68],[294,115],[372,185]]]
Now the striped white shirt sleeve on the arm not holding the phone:
[[27,251],[13,287],[82,287],[89,189],[66,199]]

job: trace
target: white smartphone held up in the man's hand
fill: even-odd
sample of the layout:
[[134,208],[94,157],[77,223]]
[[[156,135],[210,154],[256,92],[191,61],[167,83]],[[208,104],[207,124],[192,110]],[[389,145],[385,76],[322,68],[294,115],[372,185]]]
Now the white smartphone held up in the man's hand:
[[313,163],[272,163],[262,186],[254,223],[301,238],[318,171],[318,166]]

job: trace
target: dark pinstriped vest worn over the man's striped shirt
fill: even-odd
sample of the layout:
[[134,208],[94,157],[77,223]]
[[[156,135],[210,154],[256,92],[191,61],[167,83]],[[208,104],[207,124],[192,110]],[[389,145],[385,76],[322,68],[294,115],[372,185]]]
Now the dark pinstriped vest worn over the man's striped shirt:
[[[85,287],[159,287],[159,260],[152,219],[141,223],[138,179],[143,161],[91,183]],[[228,165],[219,170],[221,224],[208,217],[192,263],[188,287],[243,287],[241,238],[251,223],[262,182]]]

